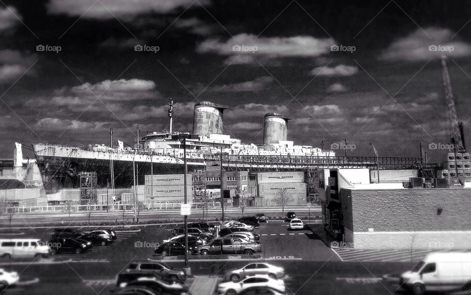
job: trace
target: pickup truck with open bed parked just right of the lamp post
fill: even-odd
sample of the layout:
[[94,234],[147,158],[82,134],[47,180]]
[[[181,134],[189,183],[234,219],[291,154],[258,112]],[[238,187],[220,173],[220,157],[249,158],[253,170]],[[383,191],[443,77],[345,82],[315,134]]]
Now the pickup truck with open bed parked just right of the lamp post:
[[207,245],[198,246],[198,253],[208,254],[245,254],[252,255],[255,252],[262,252],[262,246],[259,241],[250,243],[241,243],[236,239],[215,239]]

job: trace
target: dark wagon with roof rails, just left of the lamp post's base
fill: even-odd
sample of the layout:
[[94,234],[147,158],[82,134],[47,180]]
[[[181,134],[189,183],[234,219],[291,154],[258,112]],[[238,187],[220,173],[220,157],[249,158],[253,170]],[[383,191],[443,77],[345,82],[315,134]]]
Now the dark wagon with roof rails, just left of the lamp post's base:
[[[148,260],[131,262],[128,269],[126,269],[126,273],[137,272],[137,271],[140,271],[143,273],[155,273],[160,278],[171,279],[173,281],[184,282],[186,280],[186,272],[183,270],[183,268],[169,268],[167,266],[164,266],[161,263],[152,262]],[[126,278],[127,279],[131,278],[131,276],[127,276]],[[133,281],[133,280],[128,279],[127,282],[129,281]],[[119,277],[118,277],[118,286],[119,286]]]

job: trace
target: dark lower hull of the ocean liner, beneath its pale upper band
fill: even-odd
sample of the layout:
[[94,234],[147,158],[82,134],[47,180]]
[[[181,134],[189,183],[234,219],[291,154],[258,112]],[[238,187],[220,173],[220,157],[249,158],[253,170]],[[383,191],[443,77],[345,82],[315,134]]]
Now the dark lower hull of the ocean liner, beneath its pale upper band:
[[[54,193],[62,188],[79,188],[80,172],[96,172],[97,187],[111,187],[111,165],[114,170],[115,188],[130,188],[133,185],[132,161],[110,161],[103,159],[72,158],[62,156],[38,156],[36,161],[41,173],[46,193]],[[135,161],[136,185],[144,185],[145,175],[183,174],[181,163],[160,163]],[[152,165],[152,168],[151,168]],[[201,169],[200,165],[189,164],[188,172]]]

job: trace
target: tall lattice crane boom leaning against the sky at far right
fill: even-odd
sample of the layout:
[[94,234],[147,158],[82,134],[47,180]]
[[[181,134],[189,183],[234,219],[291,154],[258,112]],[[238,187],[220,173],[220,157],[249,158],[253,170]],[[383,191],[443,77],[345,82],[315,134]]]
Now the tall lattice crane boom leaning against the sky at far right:
[[455,97],[451,89],[451,80],[446,66],[446,56],[442,56],[442,78],[443,78],[443,94],[445,96],[448,112],[451,120],[451,143],[454,145],[455,150],[459,153],[465,153],[465,143],[463,136],[463,122],[458,122],[458,115],[456,114]]

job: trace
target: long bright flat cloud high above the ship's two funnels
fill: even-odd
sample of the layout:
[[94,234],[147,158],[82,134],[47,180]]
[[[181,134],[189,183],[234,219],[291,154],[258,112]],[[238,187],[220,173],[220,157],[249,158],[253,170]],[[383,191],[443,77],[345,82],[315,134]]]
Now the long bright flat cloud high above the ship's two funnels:
[[[330,52],[334,44],[331,38],[314,38],[312,36],[294,37],[259,37],[252,34],[238,34],[225,42],[218,39],[207,39],[197,47],[199,53],[216,53],[221,55],[254,54],[270,57],[315,57]],[[257,51],[234,51],[233,46],[246,45],[257,47]]]

